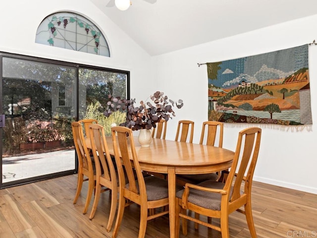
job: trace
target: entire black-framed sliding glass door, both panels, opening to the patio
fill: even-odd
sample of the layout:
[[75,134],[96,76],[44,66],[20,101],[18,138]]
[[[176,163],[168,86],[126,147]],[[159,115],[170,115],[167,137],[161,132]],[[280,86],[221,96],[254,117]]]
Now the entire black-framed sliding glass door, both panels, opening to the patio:
[[0,53],[1,187],[77,171],[71,122],[105,118],[109,94],[129,97],[129,72]]

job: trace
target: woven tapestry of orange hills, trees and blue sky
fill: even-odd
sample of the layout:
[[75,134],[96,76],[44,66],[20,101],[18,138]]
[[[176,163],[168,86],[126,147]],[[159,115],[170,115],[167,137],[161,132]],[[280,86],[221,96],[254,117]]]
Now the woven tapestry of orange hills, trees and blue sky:
[[312,124],[308,45],[206,64],[209,120]]

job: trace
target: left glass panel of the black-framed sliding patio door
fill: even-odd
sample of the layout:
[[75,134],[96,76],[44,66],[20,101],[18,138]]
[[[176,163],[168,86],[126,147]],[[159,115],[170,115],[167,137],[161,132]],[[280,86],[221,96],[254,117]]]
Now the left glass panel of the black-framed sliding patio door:
[[76,68],[2,57],[2,183],[75,171]]

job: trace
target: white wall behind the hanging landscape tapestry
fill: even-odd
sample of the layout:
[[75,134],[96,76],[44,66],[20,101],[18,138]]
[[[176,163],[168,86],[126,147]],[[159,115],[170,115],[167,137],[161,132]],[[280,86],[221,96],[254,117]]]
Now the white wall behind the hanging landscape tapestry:
[[[153,57],[157,88],[172,99],[184,100],[184,107],[176,109],[176,117],[169,121],[167,139],[174,139],[178,120],[190,119],[195,121],[194,142],[199,143],[202,122],[208,120],[208,80],[207,66],[198,67],[197,63],[231,60],[311,43],[317,38],[312,22],[317,22],[317,15]],[[316,65],[317,46],[310,46],[312,131],[286,131],[257,124],[263,128],[263,137],[254,180],[317,193]],[[223,147],[234,150],[238,132],[247,126],[251,125],[225,127]]]

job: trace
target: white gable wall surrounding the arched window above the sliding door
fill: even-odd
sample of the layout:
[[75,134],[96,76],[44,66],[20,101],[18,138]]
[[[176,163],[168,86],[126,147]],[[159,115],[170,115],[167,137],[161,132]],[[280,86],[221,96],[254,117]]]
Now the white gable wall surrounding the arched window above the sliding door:
[[[1,1],[0,6],[0,22],[3,24],[0,51],[128,70],[131,76],[131,92],[138,91],[140,82],[148,80],[150,56],[91,1],[15,0]],[[57,11],[76,12],[96,23],[106,37],[111,57],[35,43],[35,34],[41,21]],[[150,86],[145,84],[143,87],[147,89]],[[140,97],[146,97],[148,92],[148,90],[144,90],[139,95]]]

